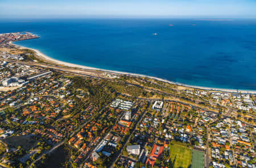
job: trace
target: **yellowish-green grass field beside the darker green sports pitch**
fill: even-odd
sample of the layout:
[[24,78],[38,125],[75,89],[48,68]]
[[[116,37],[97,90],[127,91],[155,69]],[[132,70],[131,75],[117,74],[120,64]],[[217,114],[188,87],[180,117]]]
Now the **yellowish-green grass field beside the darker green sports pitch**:
[[192,150],[181,145],[171,145],[170,156],[171,165],[174,168],[189,168],[191,167]]

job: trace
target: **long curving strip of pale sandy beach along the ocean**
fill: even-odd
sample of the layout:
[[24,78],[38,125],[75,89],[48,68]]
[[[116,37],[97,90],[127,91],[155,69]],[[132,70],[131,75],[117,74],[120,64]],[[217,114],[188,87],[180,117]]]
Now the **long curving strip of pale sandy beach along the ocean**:
[[89,66],[82,66],[82,65],[79,65],[79,64],[59,61],[57,59],[48,57],[47,55],[41,53],[39,50],[36,50],[36,49],[32,49],[32,48],[27,48],[27,47],[24,47],[24,46],[16,45],[13,42],[11,42],[11,44],[17,46],[18,48],[33,50],[33,51],[35,51],[36,55],[38,55],[38,57],[43,58],[43,59],[45,59],[46,61],[48,61],[50,63],[59,64],[59,65],[66,66],[66,67],[81,68],[81,69],[84,69],[84,70],[103,71],[103,72],[109,72],[109,73],[113,73],[113,74],[117,74],[117,75],[130,75],[130,76],[138,76],[138,77],[148,77],[150,79],[155,79],[155,80],[163,81],[163,82],[166,82],[166,83],[169,83],[169,84],[175,84],[175,85],[181,86],[181,87],[188,87],[188,88],[195,88],[195,89],[204,89],[204,90],[207,90],[207,91],[221,91],[221,92],[231,92],[231,93],[241,92],[241,93],[256,94],[256,91],[253,91],[253,90],[201,87],[201,86],[196,86],[196,85],[180,84],[180,83],[177,83],[177,82],[169,81],[169,80],[166,80],[166,79],[161,79],[159,77],[154,77],[154,76],[148,76],[148,75],[142,75],[142,74],[134,74],[134,73],[122,72],[122,71],[105,70],[105,69],[102,69],[102,68],[95,68],[95,67],[89,67]]

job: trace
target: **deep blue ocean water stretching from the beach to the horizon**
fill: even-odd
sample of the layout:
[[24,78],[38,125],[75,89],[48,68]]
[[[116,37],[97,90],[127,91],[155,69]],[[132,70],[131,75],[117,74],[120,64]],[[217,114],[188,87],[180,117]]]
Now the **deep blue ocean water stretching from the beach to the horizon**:
[[18,31],[40,38],[15,44],[65,62],[189,85],[256,90],[255,19],[0,20],[0,33]]

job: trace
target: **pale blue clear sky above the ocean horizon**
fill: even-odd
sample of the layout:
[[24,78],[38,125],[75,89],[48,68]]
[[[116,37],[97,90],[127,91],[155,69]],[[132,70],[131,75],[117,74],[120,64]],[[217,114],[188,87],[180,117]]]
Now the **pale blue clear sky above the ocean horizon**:
[[256,18],[256,0],[0,0],[0,18]]

